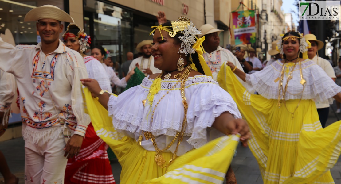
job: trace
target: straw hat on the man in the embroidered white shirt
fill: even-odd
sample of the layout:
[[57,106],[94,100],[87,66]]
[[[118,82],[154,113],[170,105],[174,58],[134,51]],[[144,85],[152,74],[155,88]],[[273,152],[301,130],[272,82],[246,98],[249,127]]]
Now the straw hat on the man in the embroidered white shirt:
[[54,5],[43,5],[30,10],[24,18],[24,21],[38,21],[40,19],[49,18],[54,20],[59,20],[62,22],[73,23],[73,18],[61,10],[59,7]]

